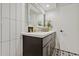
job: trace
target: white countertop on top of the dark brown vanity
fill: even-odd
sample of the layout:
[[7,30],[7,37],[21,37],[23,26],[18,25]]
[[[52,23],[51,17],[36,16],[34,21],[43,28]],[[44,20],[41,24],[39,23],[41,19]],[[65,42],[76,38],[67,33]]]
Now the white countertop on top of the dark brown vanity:
[[26,36],[33,36],[33,37],[39,37],[39,38],[43,38],[51,33],[53,33],[55,31],[49,31],[49,32],[22,32],[22,35],[26,35]]

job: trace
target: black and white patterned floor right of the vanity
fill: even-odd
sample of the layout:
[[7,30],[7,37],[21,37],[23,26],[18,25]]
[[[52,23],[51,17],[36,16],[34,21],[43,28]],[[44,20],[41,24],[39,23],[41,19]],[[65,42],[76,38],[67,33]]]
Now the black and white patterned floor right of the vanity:
[[63,51],[60,49],[55,49],[53,56],[79,56],[79,54]]

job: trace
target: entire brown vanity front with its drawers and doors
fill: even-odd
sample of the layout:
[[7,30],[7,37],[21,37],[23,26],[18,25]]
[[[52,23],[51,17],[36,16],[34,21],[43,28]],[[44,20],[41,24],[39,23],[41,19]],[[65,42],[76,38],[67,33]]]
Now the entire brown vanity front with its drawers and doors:
[[44,47],[43,48],[43,55],[44,56],[52,56],[52,54],[54,52],[54,48],[55,48],[55,33],[44,38],[43,47]]

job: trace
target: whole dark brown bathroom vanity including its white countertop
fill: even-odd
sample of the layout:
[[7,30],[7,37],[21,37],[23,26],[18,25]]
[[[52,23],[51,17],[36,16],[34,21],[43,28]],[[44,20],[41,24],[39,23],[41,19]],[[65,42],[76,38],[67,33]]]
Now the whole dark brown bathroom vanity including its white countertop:
[[51,56],[55,48],[56,32],[22,33],[23,56]]

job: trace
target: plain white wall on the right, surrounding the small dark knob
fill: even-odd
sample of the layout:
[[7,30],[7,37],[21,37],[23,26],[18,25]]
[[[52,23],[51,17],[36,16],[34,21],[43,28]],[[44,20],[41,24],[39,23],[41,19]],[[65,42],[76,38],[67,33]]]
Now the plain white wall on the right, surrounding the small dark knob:
[[60,49],[79,54],[79,4],[57,8],[57,29]]

